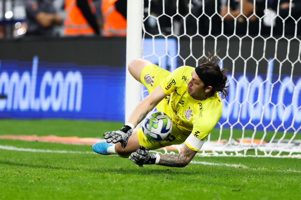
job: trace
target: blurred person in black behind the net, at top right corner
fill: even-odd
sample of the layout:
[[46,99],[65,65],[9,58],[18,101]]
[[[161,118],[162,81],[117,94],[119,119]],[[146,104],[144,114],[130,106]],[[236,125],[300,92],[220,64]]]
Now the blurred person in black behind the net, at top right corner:
[[[274,0],[272,2],[272,9],[276,12],[278,7],[278,1]],[[290,1],[289,0],[280,0],[279,2],[279,16],[283,19],[289,16],[290,11]],[[276,18],[276,24],[273,29],[274,35],[282,35],[283,33],[283,22],[280,17]],[[294,35],[295,34],[295,20],[297,21],[301,17],[301,1],[300,0],[293,0],[292,1],[292,8],[291,8],[291,17],[288,17],[285,20],[284,26],[284,34],[287,35]],[[297,25],[297,34],[301,34],[301,21],[298,21]]]

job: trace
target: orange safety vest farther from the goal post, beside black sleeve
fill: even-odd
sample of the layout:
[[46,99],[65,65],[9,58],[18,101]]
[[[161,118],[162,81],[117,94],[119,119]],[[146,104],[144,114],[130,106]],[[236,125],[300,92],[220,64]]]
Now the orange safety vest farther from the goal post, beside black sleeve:
[[[95,7],[92,0],[88,0],[92,13],[95,13]],[[77,7],[76,0],[65,0],[66,19],[64,20],[65,35],[92,35],[95,33],[90,26],[82,11]]]

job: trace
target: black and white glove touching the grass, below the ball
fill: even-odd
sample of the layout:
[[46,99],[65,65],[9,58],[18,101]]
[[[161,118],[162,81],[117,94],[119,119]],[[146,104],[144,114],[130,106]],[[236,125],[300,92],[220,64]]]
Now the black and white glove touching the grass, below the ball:
[[156,163],[157,155],[149,153],[147,148],[140,146],[140,149],[131,153],[129,159],[137,165],[153,165]]

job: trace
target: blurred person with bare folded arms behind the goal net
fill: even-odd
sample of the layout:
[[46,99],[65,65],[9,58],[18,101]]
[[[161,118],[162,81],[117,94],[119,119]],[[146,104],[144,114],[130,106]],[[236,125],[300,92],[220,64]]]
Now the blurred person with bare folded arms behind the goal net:
[[[256,1],[256,5],[255,5],[256,13],[254,13],[253,0],[242,0],[242,5],[240,5],[240,0],[221,0],[221,2],[222,2],[222,6],[221,6],[220,15],[224,17],[225,34],[232,35],[234,33],[234,18],[238,17],[236,22],[236,29],[235,29],[236,35],[246,35],[247,27],[248,27],[247,18],[249,18],[249,35],[258,35],[259,32],[258,17],[263,16],[262,8],[265,8],[265,1],[262,0]],[[240,12],[240,7],[242,7],[242,13]],[[228,13],[228,9],[230,13]],[[255,14],[258,17],[256,17]]]

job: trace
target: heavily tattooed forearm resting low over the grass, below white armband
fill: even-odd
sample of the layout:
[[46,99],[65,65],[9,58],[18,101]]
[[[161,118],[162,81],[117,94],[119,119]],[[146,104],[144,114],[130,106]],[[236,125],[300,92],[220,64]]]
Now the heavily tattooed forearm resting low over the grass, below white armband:
[[180,154],[160,155],[158,164],[168,167],[185,167],[190,163],[196,153],[197,151],[191,150],[186,145],[183,145]]

